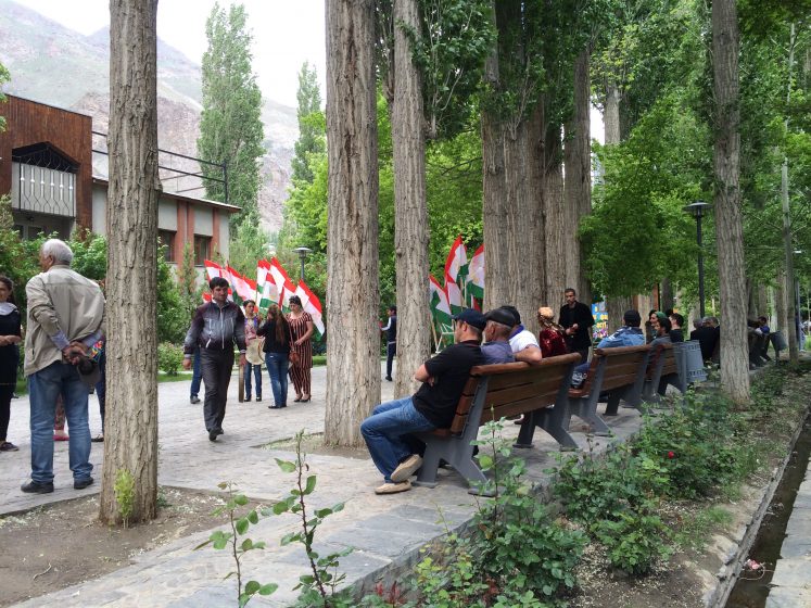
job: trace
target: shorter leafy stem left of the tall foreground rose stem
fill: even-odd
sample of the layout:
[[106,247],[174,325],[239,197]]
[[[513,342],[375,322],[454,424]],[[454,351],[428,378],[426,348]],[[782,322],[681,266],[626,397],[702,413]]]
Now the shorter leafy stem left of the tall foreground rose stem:
[[270,595],[279,588],[279,585],[276,583],[263,585],[259,582],[252,580],[245,583],[244,588],[242,587],[242,559],[248,552],[265,548],[265,543],[263,541],[254,543],[251,539],[244,537],[242,539],[242,542],[240,542],[240,537],[245,535],[249,528],[252,524],[255,525],[258,523],[259,511],[256,508],[251,508],[241,515],[238,514],[241,508],[248,506],[248,496],[239,494],[233,483],[229,481],[224,481],[217,484],[217,487],[227,492],[228,499],[221,507],[215,509],[213,515],[226,514],[228,516],[231,531],[226,532],[223,530],[216,530],[215,532],[212,532],[208,540],[194,547],[194,550],[201,549],[207,545],[212,545],[218,550],[230,547],[231,556],[233,557],[233,562],[237,569],[228,572],[225,578],[228,579],[235,574],[237,575],[237,601],[240,608],[242,608],[245,604],[251,601],[251,598],[254,595]]

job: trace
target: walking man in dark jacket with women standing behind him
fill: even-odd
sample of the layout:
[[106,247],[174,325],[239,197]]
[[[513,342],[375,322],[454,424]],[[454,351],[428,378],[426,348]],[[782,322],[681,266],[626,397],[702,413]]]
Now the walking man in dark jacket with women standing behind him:
[[[192,317],[183,341],[183,368],[191,369],[192,358],[200,357],[200,375],[205,383],[203,417],[210,441],[224,434],[228,385],[233,369],[235,344],[239,365],[244,366],[244,391],[251,401],[253,384],[256,401],[262,401],[262,366],[251,364],[245,354],[249,347],[259,349],[270,376],[274,404],[270,409],[287,407],[288,373],[293,380],[294,402],[306,403],[311,394],[313,367],[313,318],[302,307],[297,295],[290,297],[290,313],[286,316],[277,305],[268,308],[262,320],[256,303],[248,300],[242,308],[228,300],[228,281],[214,277],[208,281],[212,301],[200,306]],[[197,365],[194,366],[197,368]],[[199,385],[199,384],[198,384]],[[197,393],[192,383],[192,403]],[[198,400],[199,401],[199,400]]]

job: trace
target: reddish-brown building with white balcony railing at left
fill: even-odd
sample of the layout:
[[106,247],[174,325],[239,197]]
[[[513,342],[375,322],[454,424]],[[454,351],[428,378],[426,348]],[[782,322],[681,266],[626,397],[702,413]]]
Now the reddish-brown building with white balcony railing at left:
[[[14,228],[24,239],[76,228],[106,233],[106,137],[90,116],[7,96],[0,106],[0,194],[11,198]],[[93,145],[96,143],[96,145]],[[170,157],[176,157],[175,162]],[[157,228],[166,258],[177,263],[187,243],[197,265],[219,253],[228,258],[229,217],[240,207],[186,194],[202,192],[197,159],[160,151],[163,190]]]

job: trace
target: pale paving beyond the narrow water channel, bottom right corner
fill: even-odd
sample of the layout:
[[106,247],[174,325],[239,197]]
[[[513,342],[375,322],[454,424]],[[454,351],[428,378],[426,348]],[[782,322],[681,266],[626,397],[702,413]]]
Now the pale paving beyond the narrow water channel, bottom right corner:
[[811,606],[811,461],[797,491],[766,608]]

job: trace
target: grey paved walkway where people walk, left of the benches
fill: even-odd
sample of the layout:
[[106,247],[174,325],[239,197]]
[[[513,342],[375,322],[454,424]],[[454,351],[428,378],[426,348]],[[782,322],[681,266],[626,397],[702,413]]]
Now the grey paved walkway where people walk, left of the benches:
[[[202,405],[189,404],[189,382],[161,384],[159,482],[212,491],[216,490],[217,483],[228,480],[261,501],[275,501],[287,495],[293,478],[279,470],[274,457],[291,458],[290,451],[264,449],[262,446],[292,438],[300,429],[308,433],[322,431],[326,368],[313,371],[313,401],[309,404],[291,403],[282,410],[267,409],[268,403],[273,402],[267,377],[264,378],[266,401],[262,403],[239,404],[235,379],[224,422],[226,434],[216,443],[210,442],[204,431]],[[382,391],[383,400],[391,398],[392,384],[383,381]],[[101,422],[93,396],[90,411],[91,431],[96,434]],[[607,421],[617,438],[623,440],[638,428],[639,416],[636,410],[620,408],[620,415]],[[575,431],[580,428],[576,422],[578,419],[573,419],[572,429]],[[507,427],[506,433],[517,434],[517,426]],[[586,438],[582,432],[575,432],[574,436],[585,446]],[[28,400],[25,397],[12,402],[9,440],[20,446],[20,452],[0,454],[0,515],[99,491],[98,483],[83,491],[73,489],[66,443],[55,445],[54,493],[31,496],[20,491],[29,471],[30,457]],[[606,444],[606,439],[596,438],[596,449],[604,449]],[[535,481],[545,480],[543,471],[555,464],[557,452],[557,444],[537,431],[535,447],[521,451],[530,465],[530,477]],[[101,476],[102,455],[102,444],[94,443],[91,461],[96,466],[97,480]],[[359,451],[353,456],[312,455],[307,460],[312,472],[318,476],[313,505],[346,503],[345,509],[331,516],[319,530],[319,544],[329,549],[355,547],[353,554],[341,559],[341,570],[346,572],[350,584],[368,583],[384,572],[393,577],[397,568],[410,568],[419,555],[419,547],[444,532],[444,524],[438,523],[440,510],[445,524],[454,528],[468,520],[474,508],[473,497],[467,493],[467,483],[454,471],[441,470],[440,484],[433,490],[415,487],[404,494],[377,496],[373,489],[381,483],[381,477],[365,452]],[[289,606],[297,596],[297,592],[291,590],[306,571],[303,552],[297,545],[278,546],[278,540],[295,525],[292,517],[280,516],[263,520],[251,529],[251,537],[266,541],[268,549],[251,555],[245,560],[244,571],[250,578],[279,584],[279,591],[273,596],[256,598],[252,606]],[[231,569],[226,552],[192,550],[208,534],[198,533],[134,556],[130,566],[116,572],[17,606],[205,608],[232,605],[236,582],[221,580]],[[47,577],[38,583],[47,586]]]

